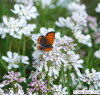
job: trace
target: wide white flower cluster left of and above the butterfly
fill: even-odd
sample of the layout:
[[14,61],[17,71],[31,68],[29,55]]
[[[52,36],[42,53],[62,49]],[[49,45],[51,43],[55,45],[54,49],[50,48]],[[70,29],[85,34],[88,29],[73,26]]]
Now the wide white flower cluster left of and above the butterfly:
[[13,17],[8,19],[6,16],[4,16],[3,22],[7,33],[17,39],[21,39],[23,34],[30,36],[31,32],[33,32],[36,28],[35,24],[27,24],[25,19],[15,19]]

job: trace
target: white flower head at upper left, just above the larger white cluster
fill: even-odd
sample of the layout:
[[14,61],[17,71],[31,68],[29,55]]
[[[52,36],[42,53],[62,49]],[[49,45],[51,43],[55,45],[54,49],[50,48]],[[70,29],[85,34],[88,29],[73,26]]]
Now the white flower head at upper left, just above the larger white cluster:
[[14,14],[18,14],[20,18],[31,20],[37,18],[39,15],[35,6],[24,6],[22,4],[15,4],[14,10],[11,10]]

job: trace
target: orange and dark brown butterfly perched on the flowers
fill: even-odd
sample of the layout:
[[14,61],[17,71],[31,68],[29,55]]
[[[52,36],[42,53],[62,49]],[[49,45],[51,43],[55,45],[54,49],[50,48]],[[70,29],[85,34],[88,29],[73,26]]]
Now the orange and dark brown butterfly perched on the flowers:
[[40,46],[37,46],[38,50],[43,50],[43,51],[50,51],[53,48],[53,43],[55,39],[55,33],[54,32],[49,32],[46,34],[46,36],[40,36],[38,38],[38,44]]

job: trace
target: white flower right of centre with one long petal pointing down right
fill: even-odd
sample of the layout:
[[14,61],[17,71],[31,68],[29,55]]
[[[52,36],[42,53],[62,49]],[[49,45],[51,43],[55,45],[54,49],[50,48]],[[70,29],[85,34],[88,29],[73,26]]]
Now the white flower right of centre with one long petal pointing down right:
[[75,54],[74,51],[68,51],[67,56],[65,57],[63,62],[64,62],[64,67],[66,67],[65,70],[67,68],[72,69],[72,67],[74,67],[77,75],[81,76],[79,68],[83,68],[82,66],[83,60],[80,59],[80,56],[78,54]]

